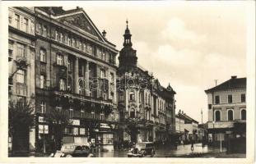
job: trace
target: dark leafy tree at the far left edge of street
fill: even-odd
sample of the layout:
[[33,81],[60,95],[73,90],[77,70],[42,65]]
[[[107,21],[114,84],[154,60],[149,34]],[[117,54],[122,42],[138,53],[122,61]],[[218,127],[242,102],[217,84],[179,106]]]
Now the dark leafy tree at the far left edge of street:
[[22,143],[22,140],[28,139],[31,125],[34,125],[34,109],[30,103],[10,101],[8,105],[8,130],[12,137],[12,153],[24,148],[28,150],[29,143]]

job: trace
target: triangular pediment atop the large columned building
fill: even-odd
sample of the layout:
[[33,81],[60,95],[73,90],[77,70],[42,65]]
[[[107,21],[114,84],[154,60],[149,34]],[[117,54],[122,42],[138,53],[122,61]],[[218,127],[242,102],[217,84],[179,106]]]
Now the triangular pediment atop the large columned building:
[[61,16],[58,18],[58,21],[63,22],[63,24],[74,26],[79,30],[85,31],[101,41],[105,41],[103,36],[100,34],[100,31],[97,30],[91,19],[84,12],[75,13],[69,16]]

